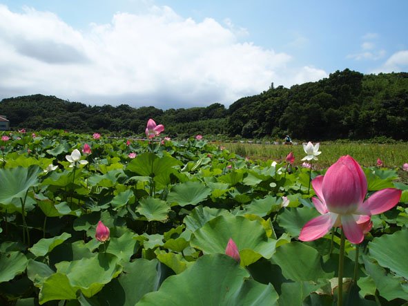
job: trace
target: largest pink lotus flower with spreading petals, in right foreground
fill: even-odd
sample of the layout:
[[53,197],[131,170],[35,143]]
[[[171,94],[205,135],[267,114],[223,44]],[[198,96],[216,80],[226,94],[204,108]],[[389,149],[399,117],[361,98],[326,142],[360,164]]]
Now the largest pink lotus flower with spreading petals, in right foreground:
[[342,156],[311,182],[318,198],[312,198],[322,214],[307,222],[299,239],[311,241],[321,238],[331,227],[342,227],[346,238],[354,244],[364,240],[371,215],[394,207],[401,197],[398,189],[387,188],[373,193],[367,200],[367,178],[353,157]]

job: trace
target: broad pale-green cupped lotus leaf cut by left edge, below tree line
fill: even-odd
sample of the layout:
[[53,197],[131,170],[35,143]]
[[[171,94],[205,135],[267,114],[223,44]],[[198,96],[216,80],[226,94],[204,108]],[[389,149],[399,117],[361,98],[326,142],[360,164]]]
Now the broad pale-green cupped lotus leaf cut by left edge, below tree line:
[[39,184],[39,166],[0,169],[0,203],[10,204],[14,198],[24,198],[30,187]]

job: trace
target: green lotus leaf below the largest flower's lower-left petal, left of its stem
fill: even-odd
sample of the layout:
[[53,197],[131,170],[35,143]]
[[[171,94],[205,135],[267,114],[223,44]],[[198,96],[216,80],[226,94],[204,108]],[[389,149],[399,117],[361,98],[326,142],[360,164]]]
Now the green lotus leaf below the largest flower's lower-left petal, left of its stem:
[[334,273],[322,269],[322,256],[313,247],[301,242],[289,242],[278,247],[271,261],[280,266],[285,278],[295,281],[317,281],[319,278],[331,278]]

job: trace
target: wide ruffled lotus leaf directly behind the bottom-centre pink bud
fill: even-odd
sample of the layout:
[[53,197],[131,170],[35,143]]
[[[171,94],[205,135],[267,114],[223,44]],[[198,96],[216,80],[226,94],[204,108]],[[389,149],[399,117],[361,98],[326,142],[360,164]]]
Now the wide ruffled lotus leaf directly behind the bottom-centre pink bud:
[[275,251],[276,240],[266,236],[262,224],[242,216],[218,216],[206,222],[193,233],[191,246],[204,254],[224,254],[229,238],[240,251],[242,265],[250,265],[261,256],[271,258]]

